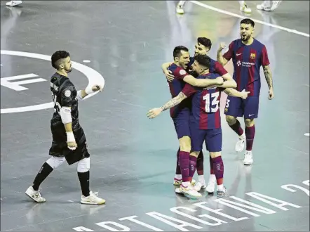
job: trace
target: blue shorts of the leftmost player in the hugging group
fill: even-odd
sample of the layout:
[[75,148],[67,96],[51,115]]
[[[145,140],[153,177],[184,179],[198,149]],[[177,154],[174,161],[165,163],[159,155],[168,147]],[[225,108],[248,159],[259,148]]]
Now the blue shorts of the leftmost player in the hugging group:
[[184,108],[177,113],[177,117],[173,117],[173,123],[175,124],[175,131],[177,131],[177,138],[182,138],[184,136],[191,136],[191,131],[189,129],[189,116],[191,115],[191,110],[189,108]]

